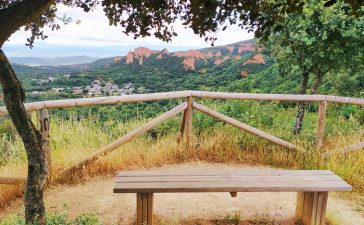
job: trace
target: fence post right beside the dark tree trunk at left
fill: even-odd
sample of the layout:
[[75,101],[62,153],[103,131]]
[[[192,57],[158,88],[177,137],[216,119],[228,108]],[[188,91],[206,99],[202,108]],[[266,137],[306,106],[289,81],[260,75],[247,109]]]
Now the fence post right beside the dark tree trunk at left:
[[52,156],[51,146],[49,142],[49,113],[48,109],[43,108],[39,110],[40,131],[42,133],[42,143],[46,154],[48,164],[48,174],[52,174]]

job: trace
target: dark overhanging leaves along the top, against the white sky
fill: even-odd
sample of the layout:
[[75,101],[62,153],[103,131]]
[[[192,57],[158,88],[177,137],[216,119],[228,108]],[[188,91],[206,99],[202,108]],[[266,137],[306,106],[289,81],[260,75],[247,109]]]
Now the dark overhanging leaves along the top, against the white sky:
[[[360,0],[346,0],[352,5],[354,15],[364,3]],[[335,0],[321,1],[325,6],[335,4]],[[287,13],[301,13],[304,1],[301,0],[6,0],[0,3],[0,46],[12,33],[24,26],[31,35],[27,45],[33,46],[36,39],[47,35],[43,29],[60,29],[60,24],[69,22],[68,18],[59,17],[60,5],[82,8],[91,12],[101,7],[109,19],[110,25],[121,26],[126,34],[135,38],[154,35],[170,41],[177,33],[173,24],[182,21],[186,27],[214,42],[215,33],[226,26],[237,24],[239,27],[255,31],[257,37],[268,37],[271,27],[284,20]],[[41,13],[37,13],[40,10]],[[17,14],[15,18],[11,15]],[[13,21],[9,21],[12,18]],[[6,29],[6,28],[10,29]],[[280,26],[275,26],[279,29]],[[6,38],[6,39],[4,39]]]

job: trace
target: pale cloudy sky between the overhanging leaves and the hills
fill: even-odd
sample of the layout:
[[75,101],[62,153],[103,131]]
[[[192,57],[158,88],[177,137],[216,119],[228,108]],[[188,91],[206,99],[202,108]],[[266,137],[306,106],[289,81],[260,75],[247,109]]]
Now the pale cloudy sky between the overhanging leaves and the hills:
[[[29,33],[19,30],[14,33],[3,46],[5,53],[11,57],[64,57],[87,55],[93,57],[110,57],[125,55],[136,47],[151,49],[167,48],[169,51],[180,51],[209,47],[210,43],[195,35],[191,29],[186,29],[181,23],[175,24],[178,33],[172,42],[165,43],[155,37],[138,38],[122,33],[121,27],[109,26],[108,19],[102,9],[91,13],[84,13],[79,8],[60,7],[58,16],[66,15],[75,22],[62,26],[61,30],[45,30],[48,36],[45,40],[38,40],[33,49],[25,46]],[[253,33],[230,26],[225,31],[217,33],[215,45],[225,45],[253,38]]]

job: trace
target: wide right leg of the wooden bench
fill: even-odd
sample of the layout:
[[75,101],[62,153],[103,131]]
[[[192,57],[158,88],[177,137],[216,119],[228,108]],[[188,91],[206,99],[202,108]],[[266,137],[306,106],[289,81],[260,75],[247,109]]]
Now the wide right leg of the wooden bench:
[[304,225],[325,225],[328,192],[297,193],[296,218]]

